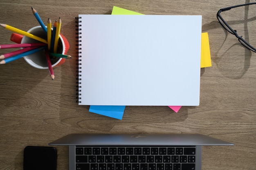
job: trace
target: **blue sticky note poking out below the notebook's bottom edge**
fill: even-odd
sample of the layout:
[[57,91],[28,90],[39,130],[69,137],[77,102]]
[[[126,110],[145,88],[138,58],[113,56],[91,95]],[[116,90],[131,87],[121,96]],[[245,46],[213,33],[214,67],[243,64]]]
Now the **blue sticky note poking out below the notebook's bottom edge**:
[[101,106],[91,105],[89,112],[101,114],[115,119],[122,119],[125,106]]

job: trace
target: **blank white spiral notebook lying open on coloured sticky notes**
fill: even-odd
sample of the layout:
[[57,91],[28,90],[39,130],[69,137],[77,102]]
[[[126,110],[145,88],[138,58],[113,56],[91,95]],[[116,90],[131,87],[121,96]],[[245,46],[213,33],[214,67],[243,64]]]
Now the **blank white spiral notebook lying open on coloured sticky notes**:
[[79,15],[80,105],[199,105],[202,16]]

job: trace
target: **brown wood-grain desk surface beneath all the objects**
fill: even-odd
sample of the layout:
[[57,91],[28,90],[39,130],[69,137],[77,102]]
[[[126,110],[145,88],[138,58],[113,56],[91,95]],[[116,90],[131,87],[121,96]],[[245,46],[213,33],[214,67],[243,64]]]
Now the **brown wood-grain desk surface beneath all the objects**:
[[[48,17],[54,20],[60,16],[61,33],[70,42],[68,54],[75,56],[74,25],[78,14],[110,14],[115,5],[148,15],[202,15],[202,32],[209,33],[212,67],[201,69],[200,106],[182,107],[178,113],[167,106],[128,106],[123,120],[117,120],[90,113],[89,106],[78,106],[74,57],[54,69],[54,81],[48,70],[35,69],[23,59],[0,65],[1,169],[21,170],[25,146],[47,146],[71,133],[199,133],[235,143],[234,146],[204,146],[203,170],[255,170],[256,53],[245,49],[216,18],[220,8],[249,0],[47,2],[1,0],[0,22],[27,31],[38,25],[31,6],[45,23]],[[242,13],[229,18],[232,25],[250,32],[244,36],[252,43],[256,42],[254,9],[244,8]],[[252,23],[254,26],[249,27]],[[0,44],[11,43],[10,36],[11,31],[0,28]],[[0,54],[9,51],[1,49]],[[67,170],[68,147],[56,148],[57,168]]]

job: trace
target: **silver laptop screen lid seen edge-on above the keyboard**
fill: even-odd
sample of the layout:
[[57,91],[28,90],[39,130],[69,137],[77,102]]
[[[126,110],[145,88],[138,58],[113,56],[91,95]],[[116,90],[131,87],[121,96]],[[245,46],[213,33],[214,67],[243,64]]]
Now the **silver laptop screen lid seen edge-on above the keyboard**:
[[68,134],[49,145],[234,145],[202,134]]

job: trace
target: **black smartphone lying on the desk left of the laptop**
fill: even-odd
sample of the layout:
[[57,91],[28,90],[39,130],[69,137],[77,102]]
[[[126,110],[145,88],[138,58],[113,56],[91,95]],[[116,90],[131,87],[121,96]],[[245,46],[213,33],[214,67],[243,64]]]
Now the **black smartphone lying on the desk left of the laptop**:
[[56,159],[54,147],[27,146],[24,149],[23,170],[56,170]]

